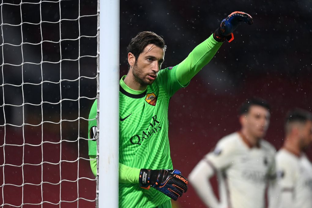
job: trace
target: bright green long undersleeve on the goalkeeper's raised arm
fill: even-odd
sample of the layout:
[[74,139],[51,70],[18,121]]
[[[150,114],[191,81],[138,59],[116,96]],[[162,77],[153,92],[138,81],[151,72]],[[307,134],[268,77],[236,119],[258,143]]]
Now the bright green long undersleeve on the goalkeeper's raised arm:
[[188,82],[204,67],[212,57],[217,53],[222,42],[213,39],[213,34],[196,46],[193,51],[178,64],[176,76],[181,85],[187,85]]

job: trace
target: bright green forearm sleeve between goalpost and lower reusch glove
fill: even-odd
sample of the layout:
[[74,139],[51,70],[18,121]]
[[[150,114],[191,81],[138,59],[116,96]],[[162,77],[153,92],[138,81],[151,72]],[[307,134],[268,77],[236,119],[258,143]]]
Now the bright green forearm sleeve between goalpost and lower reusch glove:
[[119,183],[139,183],[139,168],[129,167],[119,163]]

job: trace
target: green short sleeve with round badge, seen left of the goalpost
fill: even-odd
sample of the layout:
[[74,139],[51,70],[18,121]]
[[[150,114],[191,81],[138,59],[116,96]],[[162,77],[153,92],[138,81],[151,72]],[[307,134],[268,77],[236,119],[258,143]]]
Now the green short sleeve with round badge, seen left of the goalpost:
[[97,123],[96,123],[96,114],[97,114],[97,101],[95,100],[89,114],[89,119],[92,119],[89,121],[88,125],[88,149],[89,149],[89,156],[90,155],[96,155],[96,131],[97,131]]

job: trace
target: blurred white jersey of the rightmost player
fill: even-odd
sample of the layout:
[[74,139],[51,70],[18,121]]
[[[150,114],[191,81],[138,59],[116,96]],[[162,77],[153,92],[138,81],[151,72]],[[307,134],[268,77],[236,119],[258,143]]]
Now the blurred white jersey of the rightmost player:
[[283,208],[312,207],[312,164],[305,154],[296,156],[286,149],[276,154],[276,170],[280,191],[292,192],[292,205]]

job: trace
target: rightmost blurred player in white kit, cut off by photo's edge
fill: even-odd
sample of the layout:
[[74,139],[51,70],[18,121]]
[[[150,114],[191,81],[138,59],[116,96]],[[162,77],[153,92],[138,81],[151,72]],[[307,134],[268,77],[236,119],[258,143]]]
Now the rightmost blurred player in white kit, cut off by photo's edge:
[[312,114],[302,109],[290,111],[284,146],[276,154],[278,208],[312,207],[312,164],[304,153],[311,141]]

